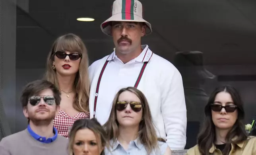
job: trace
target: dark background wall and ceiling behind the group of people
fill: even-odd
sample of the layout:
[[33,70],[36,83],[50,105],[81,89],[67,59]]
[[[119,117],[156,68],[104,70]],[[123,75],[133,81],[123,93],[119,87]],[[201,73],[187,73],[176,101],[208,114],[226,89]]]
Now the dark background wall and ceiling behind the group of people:
[[[79,35],[89,52],[90,63],[112,52],[112,38],[100,24],[111,15],[113,0],[0,0],[0,100],[1,134],[27,127],[19,95],[27,82],[41,78],[52,42],[60,35]],[[203,52],[204,68],[215,78],[184,84],[186,99],[198,113],[188,114],[198,122],[207,95],[217,85],[231,84],[241,93],[246,123],[256,113],[256,1],[255,0],[141,0],[144,19],[153,33],[143,43],[174,63],[177,51]],[[76,21],[92,17],[93,22]],[[186,67],[185,72],[194,70]],[[196,71],[195,71],[196,72]],[[184,80],[190,79],[183,74]],[[194,76],[193,76],[194,77]],[[204,92],[191,95],[191,87]],[[186,91],[188,90],[188,91]],[[190,91],[189,91],[190,90]],[[192,96],[192,99],[190,98]],[[199,100],[199,101],[198,101]],[[200,104],[199,104],[200,103]],[[187,103],[188,104],[188,103]],[[198,123],[188,123],[194,134]],[[189,126],[191,125],[191,126]],[[0,135],[1,135],[0,134]],[[189,134],[189,133],[188,133]],[[190,136],[188,136],[190,137]]]

